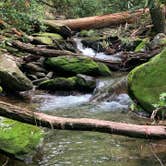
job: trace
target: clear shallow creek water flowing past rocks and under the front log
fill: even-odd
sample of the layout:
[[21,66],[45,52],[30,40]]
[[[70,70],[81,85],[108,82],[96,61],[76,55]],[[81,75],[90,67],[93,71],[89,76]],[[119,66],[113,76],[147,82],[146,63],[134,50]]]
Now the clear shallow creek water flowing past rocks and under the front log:
[[[83,49],[80,45],[79,48]],[[87,52],[89,49],[84,54]],[[107,55],[102,54],[103,56]],[[116,73],[110,78],[99,78],[97,91],[123,76],[122,73]],[[92,96],[93,94],[48,94],[33,91],[28,102],[6,97],[0,99],[55,116],[87,117],[136,124],[145,124],[148,120],[128,111],[131,99],[126,93],[118,94],[111,101],[105,99],[97,103],[90,102]],[[97,132],[44,130],[46,136],[43,144],[33,159],[23,162],[10,158],[8,165],[156,166],[160,165],[159,159],[166,164],[164,140],[151,141]],[[6,156],[1,154],[0,165],[5,161]]]

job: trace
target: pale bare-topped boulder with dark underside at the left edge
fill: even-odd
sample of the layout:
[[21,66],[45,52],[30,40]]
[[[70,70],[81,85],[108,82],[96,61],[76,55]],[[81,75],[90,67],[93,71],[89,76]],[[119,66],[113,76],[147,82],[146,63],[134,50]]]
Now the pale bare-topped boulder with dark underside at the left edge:
[[7,55],[0,55],[0,84],[7,91],[26,91],[33,88],[32,82],[21,72]]

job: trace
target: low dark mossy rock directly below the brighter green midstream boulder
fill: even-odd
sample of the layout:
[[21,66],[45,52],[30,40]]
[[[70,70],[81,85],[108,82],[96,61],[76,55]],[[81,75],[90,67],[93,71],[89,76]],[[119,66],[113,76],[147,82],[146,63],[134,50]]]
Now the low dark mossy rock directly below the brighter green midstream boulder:
[[91,92],[96,87],[96,80],[85,75],[78,75],[76,77],[58,77],[43,81],[39,85],[39,89],[48,91],[84,91]]

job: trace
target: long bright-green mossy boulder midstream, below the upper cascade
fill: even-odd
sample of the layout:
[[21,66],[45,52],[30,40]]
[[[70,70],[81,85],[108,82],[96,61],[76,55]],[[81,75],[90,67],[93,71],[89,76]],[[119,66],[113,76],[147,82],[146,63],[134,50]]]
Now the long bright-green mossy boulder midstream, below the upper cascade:
[[84,56],[59,56],[48,58],[45,61],[47,67],[65,75],[85,74],[92,76],[108,76],[109,68],[102,63],[97,63]]

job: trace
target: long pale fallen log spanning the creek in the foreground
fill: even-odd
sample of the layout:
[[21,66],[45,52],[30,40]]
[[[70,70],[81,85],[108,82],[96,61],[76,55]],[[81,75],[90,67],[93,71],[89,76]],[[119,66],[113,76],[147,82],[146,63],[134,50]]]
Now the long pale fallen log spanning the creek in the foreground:
[[166,126],[135,125],[88,118],[63,118],[32,112],[0,101],[0,115],[51,129],[96,131],[146,139],[165,139]]

